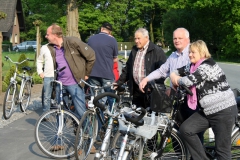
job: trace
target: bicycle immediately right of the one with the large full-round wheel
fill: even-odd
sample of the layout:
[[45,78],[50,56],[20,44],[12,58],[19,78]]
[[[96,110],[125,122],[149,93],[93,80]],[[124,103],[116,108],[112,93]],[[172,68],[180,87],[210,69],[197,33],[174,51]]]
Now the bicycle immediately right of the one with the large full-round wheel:
[[[88,101],[88,110],[82,116],[81,121],[79,122],[79,126],[77,128],[76,140],[75,140],[75,158],[77,160],[87,159],[88,155],[90,154],[93,143],[95,142],[95,139],[98,135],[98,123],[100,122],[103,125],[103,127],[105,124],[105,120],[102,118],[99,108],[97,108],[93,103],[95,103],[94,99],[102,91],[102,88],[106,86],[103,86],[103,87],[92,86],[83,80],[81,80],[81,82],[89,86],[90,90],[93,90],[94,94],[91,94],[91,98]],[[119,102],[119,97],[114,93],[104,92],[99,95],[105,95],[100,99],[106,96],[110,96],[116,99],[114,103]],[[101,102],[105,103],[104,101],[101,101]],[[112,107],[112,110],[113,108],[114,107]],[[104,111],[103,110],[104,108],[100,108],[100,109]]]

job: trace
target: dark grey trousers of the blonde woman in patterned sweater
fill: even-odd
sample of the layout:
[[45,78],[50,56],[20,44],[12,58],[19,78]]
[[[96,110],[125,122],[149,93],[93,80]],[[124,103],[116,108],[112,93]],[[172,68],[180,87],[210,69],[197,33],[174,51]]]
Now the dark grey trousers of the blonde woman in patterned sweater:
[[208,160],[197,133],[209,127],[215,135],[217,160],[231,159],[231,132],[237,118],[237,107],[232,106],[206,116],[202,111],[194,113],[180,126],[180,133],[194,160]]

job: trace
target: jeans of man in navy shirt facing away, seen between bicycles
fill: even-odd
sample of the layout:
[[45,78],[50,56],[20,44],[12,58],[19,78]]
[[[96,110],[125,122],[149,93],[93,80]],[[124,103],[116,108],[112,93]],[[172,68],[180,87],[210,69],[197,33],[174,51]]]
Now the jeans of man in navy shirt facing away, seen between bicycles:
[[[88,79],[88,83],[90,83],[91,85],[101,86],[101,87],[107,85],[108,83],[112,84],[113,82],[114,82],[114,80],[100,78],[100,77],[89,77],[89,79]],[[105,92],[113,92],[114,93],[114,90],[112,90],[111,87],[104,87],[104,91]],[[92,93],[92,94],[94,94],[94,93]],[[108,105],[110,106],[109,109],[111,111],[114,99],[112,97],[108,96],[107,97],[107,101],[108,101]],[[102,111],[100,112],[100,114],[102,116],[102,119],[104,119]],[[98,118],[98,130],[100,130],[101,127],[102,127],[102,123],[100,122],[100,120]]]

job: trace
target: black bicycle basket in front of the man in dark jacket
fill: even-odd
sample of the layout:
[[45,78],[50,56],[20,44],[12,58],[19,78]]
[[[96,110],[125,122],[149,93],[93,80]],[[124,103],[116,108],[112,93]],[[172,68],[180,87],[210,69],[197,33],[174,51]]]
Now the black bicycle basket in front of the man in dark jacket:
[[172,88],[165,89],[158,87],[157,84],[152,85],[150,108],[154,112],[170,113],[172,111],[175,90]]

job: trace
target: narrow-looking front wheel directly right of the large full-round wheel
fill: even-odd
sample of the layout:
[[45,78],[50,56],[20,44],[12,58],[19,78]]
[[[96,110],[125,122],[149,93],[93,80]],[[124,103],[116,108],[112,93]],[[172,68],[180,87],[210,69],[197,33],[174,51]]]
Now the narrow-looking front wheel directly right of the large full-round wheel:
[[87,159],[97,137],[98,120],[92,110],[87,110],[79,122],[75,140],[75,157],[77,160]]

